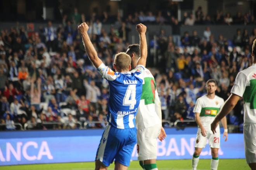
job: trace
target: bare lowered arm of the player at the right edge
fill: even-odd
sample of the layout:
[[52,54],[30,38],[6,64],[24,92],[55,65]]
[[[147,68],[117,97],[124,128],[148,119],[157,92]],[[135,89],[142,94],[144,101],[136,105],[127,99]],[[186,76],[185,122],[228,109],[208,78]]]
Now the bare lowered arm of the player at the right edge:
[[237,102],[240,100],[240,96],[232,93],[228,100],[223,105],[222,109],[220,110],[219,114],[215,117],[214,121],[211,123],[211,131],[216,133],[216,128],[218,123],[220,122],[223,117],[225,117],[232,109],[234,109]]

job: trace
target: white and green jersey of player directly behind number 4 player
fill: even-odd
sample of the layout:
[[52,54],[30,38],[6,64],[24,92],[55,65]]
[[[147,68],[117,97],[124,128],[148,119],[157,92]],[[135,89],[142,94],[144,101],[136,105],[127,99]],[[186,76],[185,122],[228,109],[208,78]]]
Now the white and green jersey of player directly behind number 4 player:
[[156,82],[151,72],[145,68],[142,96],[136,115],[137,129],[144,129],[162,123],[161,103],[156,90]]

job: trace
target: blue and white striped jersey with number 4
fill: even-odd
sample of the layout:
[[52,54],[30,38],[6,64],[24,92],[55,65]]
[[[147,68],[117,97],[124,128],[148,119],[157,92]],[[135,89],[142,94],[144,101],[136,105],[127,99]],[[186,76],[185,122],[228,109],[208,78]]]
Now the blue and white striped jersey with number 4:
[[109,82],[109,109],[107,121],[118,129],[135,127],[135,116],[142,95],[145,67],[138,65],[136,71],[114,72],[103,63],[97,68]]

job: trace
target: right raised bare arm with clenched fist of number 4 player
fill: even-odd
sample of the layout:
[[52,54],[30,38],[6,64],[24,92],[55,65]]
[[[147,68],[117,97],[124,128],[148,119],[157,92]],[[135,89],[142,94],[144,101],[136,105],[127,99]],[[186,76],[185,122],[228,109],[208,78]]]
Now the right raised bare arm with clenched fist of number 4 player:
[[147,40],[146,40],[146,31],[147,27],[143,24],[138,24],[136,30],[140,36],[140,58],[138,59],[137,65],[146,66],[147,62]]

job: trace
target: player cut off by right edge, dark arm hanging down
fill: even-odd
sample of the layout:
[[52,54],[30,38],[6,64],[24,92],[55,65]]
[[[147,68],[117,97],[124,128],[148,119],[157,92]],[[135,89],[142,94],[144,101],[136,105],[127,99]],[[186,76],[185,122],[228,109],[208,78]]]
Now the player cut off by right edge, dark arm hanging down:
[[251,57],[253,65],[240,71],[235,78],[231,95],[223,105],[220,114],[211,124],[211,130],[216,133],[218,122],[234,109],[241,97],[244,98],[244,148],[246,162],[251,170],[256,170],[256,39],[253,41]]

